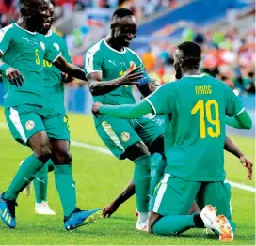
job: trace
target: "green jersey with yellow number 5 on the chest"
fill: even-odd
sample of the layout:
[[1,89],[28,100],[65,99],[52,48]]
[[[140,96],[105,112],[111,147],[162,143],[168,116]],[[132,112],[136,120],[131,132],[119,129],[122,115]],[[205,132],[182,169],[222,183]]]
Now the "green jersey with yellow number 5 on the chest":
[[43,59],[53,63],[61,55],[54,45],[36,32],[29,32],[13,23],[0,30],[0,52],[2,60],[10,67],[18,69],[24,76],[23,86],[5,83],[5,107],[21,104],[47,105],[43,86]]

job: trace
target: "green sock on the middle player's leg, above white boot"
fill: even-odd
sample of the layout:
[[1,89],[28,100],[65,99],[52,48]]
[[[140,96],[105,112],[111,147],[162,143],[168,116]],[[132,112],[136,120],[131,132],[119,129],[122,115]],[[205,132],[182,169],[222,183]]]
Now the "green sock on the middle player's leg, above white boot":
[[138,212],[149,212],[151,200],[151,156],[139,157],[135,160],[135,164],[136,208]]

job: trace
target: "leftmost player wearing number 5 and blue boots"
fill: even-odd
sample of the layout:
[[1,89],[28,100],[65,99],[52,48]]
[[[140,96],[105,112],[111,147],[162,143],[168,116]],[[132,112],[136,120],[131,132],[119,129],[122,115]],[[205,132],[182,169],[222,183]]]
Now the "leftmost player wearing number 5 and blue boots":
[[0,196],[3,223],[15,228],[15,205],[20,192],[50,160],[55,164],[56,189],[67,230],[88,223],[99,209],[76,207],[72,155],[67,120],[48,107],[43,84],[43,59],[70,76],[86,80],[83,69],[67,63],[61,52],[41,35],[51,25],[48,0],[21,0],[21,18],[0,31],[0,71],[5,83],[5,115],[14,139],[33,154],[24,160],[8,190]]

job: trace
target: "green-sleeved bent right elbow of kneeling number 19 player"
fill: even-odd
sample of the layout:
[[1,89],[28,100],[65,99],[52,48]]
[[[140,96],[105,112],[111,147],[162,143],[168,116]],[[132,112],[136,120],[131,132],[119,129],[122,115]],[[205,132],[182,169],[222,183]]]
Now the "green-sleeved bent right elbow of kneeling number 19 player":
[[226,116],[225,122],[227,125],[238,129],[251,129],[252,127],[251,118],[246,110],[234,117]]

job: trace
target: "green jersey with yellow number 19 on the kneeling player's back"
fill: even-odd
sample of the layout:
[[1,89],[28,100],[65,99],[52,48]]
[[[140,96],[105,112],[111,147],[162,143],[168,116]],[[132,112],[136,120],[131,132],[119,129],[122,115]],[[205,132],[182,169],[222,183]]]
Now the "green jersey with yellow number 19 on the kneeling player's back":
[[232,89],[200,75],[162,85],[146,98],[157,115],[168,115],[165,131],[166,171],[192,181],[223,181],[225,115],[243,112]]

